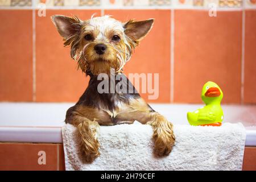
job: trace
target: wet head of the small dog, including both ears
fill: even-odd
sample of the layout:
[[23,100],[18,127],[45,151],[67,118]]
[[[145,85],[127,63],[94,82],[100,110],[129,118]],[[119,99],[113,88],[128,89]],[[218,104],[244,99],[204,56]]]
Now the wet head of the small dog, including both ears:
[[85,73],[110,73],[110,68],[121,72],[133,49],[151,30],[154,19],[119,22],[110,16],[80,20],[76,16],[53,15],[52,22],[71,46],[71,57]]

